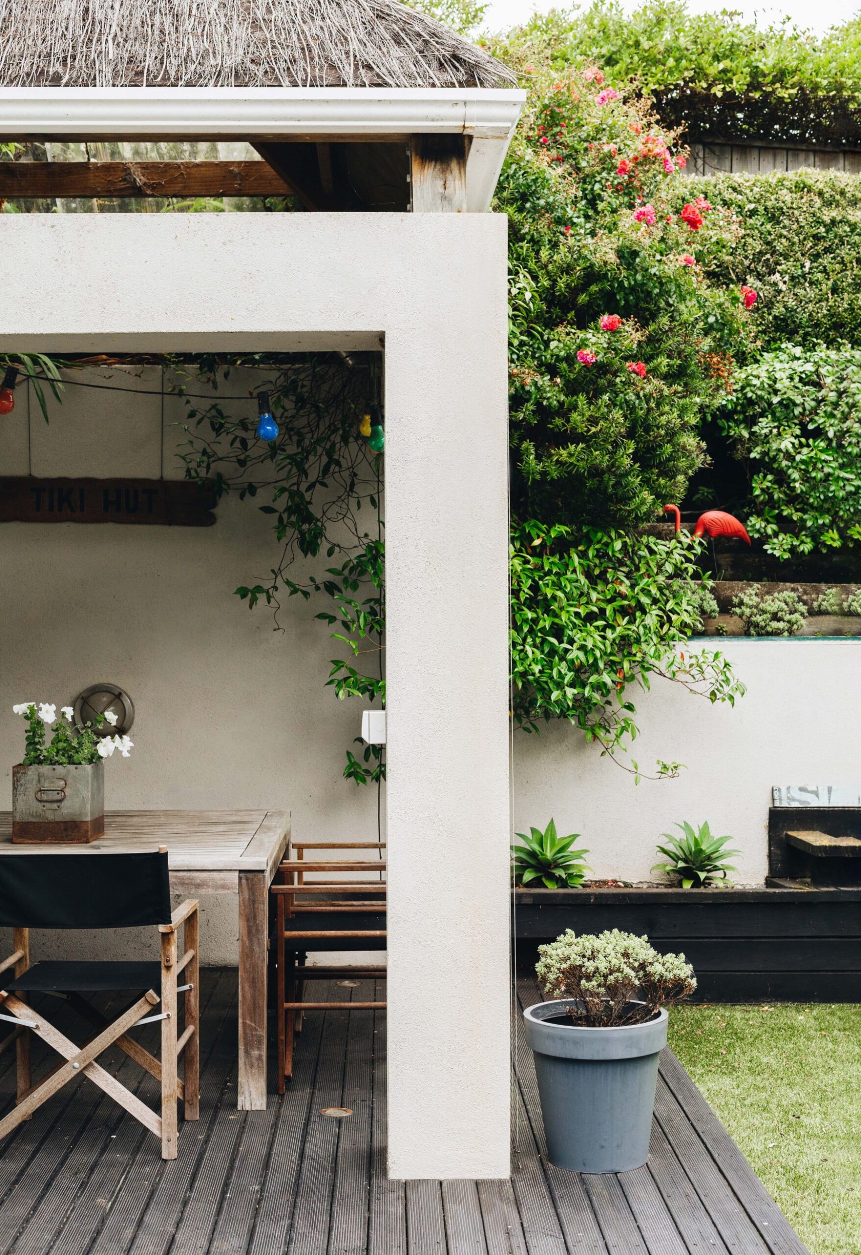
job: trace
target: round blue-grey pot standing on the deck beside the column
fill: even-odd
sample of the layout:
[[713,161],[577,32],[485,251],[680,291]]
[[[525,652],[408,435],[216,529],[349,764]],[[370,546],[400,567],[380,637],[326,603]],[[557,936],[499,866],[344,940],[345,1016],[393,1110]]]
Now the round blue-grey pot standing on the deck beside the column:
[[658,1057],[666,1012],[646,1024],[580,1028],[547,1023],[574,999],[523,1012],[551,1163],[571,1172],[628,1172],[649,1157]]

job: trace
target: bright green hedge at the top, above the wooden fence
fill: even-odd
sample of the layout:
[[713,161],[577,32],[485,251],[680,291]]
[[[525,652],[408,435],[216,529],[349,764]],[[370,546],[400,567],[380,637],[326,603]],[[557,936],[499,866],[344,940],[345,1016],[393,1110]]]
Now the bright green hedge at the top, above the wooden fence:
[[560,68],[596,63],[615,83],[653,95],[666,125],[684,123],[699,139],[861,143],[857,18],[815,39],[729,11],[694,15],[680,0],[651,0],[634,13],[599,0],[533,16],[522,38],[536,36]]

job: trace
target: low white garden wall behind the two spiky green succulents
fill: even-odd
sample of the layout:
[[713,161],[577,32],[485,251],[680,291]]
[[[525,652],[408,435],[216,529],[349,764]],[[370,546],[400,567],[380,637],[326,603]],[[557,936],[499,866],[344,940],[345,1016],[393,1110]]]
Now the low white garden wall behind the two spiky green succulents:
[[634,784],[582,733],[551,724],[540,737],[515,735],[515,828],[546,825],[580,832],[596,877],[648,880],[655,842],[675,823],[708,821],[730,833],[739,884],[767,873],[772,784],[861,781],[861,641],[694,641],[719,648],[747,684],[735,707],[710,705],[655,679],[634,697],[643,769],[656,758],[687,768],[676,779]]

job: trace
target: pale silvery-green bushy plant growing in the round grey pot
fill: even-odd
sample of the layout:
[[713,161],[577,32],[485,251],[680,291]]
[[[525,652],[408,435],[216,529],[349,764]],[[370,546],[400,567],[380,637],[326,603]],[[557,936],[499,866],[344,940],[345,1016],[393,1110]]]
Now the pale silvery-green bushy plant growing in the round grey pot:
[[538,956],[535,970],[545,998],[576,999],[569,1014],[584,1028],[643,1024],[697,988],[683,954],[659,954],[646,936],[619,929],[580,936],[566,929],[538,946]]

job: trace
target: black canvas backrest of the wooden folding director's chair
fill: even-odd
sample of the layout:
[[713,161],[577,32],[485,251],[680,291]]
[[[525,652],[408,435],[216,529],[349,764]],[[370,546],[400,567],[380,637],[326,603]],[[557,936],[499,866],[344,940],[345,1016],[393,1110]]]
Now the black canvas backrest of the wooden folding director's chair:
[[0,925],[131,929],[169,922],[166,853],[0,855]]

